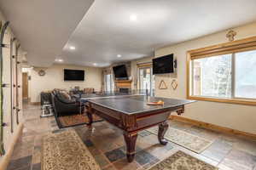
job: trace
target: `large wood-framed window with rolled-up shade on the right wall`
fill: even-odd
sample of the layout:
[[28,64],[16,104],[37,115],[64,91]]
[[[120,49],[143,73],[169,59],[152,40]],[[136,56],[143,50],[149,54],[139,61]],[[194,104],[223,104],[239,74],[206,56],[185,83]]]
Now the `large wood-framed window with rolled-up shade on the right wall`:
[[188,98],[256,105],[256,37],[188,52]]

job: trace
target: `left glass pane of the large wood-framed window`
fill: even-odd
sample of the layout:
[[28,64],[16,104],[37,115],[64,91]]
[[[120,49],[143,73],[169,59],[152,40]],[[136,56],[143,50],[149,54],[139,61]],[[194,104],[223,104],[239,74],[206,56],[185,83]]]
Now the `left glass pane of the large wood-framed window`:
[[231,97],[232,54],[193,60],[193,94]]

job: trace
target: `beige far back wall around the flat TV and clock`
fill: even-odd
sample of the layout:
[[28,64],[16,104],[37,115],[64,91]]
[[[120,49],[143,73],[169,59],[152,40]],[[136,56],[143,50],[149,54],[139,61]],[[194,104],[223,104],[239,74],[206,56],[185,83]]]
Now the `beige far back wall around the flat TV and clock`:
[[[44,70],[44,77],[38,75],[39,70]],[[84,81],[64,81],[64,69],[78,69],[84,70]],[[69,90],[75,86],[83,88],[95,88],[100,91],[102,87],[102,69],[96,67],[84,67],[77,65],[52,65],[49,68],[33,68],[29,75],[31,80],[29,82],[29,97],[32,102],[40,101],[40,93],[54,88],[62,88]]]

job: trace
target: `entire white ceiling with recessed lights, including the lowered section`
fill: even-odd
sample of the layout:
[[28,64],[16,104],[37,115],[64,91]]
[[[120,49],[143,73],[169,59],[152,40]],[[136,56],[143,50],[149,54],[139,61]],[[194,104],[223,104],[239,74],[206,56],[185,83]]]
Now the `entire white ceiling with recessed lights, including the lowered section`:
[[[0,8],[27,50],[28,61],[37,65],[58,58],[67,64],[107,66],[256,20],[256,0],[96,0],[83,19],[91,1],[40,0],[50,3],[41,6],[35,2],[39,1],[0,0]],[[137,21],[130,20],[131,14]],[[24,16],[26,23],[21,21]],[[75,24],[79,25],[67,42]],[[62,52],[57,50],[61,47]]]

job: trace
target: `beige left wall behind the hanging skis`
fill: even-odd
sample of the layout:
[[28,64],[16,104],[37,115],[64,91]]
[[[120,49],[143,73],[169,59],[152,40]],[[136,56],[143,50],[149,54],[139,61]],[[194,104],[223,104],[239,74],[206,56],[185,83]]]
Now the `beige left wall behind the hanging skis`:
[[[0,11],[0,20],[3,21],[3,23],[5,22],[3,14]],[[5,35],[3,38],[3,43],[4,44],[10,44],[10,39],[15,37],[13,32],[10,30],[10,28],[8,27],[7,31],[5,31]],[[14,47],[15,47],[15,43],[14,42]],[[13,48],[13,54],[15,54],[15,48]],[[20,49],[19,50],[19,56],[18,56],[18,60],[20,61],[22,59],[23,52]],[[3,48],[3,83],[10,83],[10,48]],[[18,65],[18,85],[22,85],[22,75],[21,75],[21,66]],[[22,122],[22,88],[19,88],[19,117],[20,117],[20,122]],[[10,97],[11,97],[11,91],[10,91],[10,87],[8,88],[3,88],[3,122],[7,123],[8,126],[4,127],[4,131],[3,131],[3,144],[4,144],[4,148],[6,151],[9,150],[11,141],[13,141],[14,139],[14,134],[17,131],[17,123],[16,123],[16,114],[13,114],[13,125],[14,125],[14,132],[11,133],[11,126],[10,126],[10,122],[11,122],[11,102],[10,102]]]

